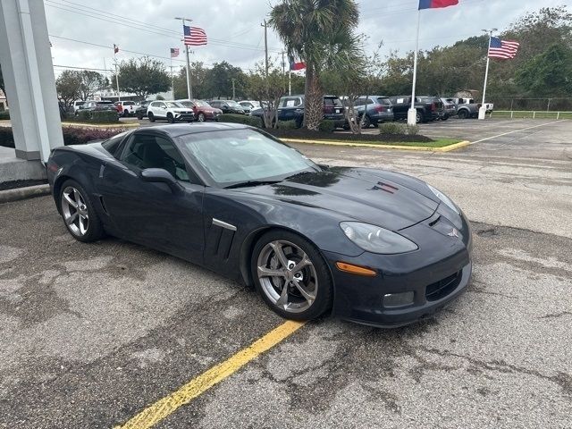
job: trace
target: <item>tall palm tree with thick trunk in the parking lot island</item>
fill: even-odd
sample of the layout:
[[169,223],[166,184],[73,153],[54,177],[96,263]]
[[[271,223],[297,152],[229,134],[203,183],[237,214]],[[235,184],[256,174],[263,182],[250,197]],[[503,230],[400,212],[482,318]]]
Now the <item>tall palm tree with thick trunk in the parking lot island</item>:
[[306,63],[306,101],[304,124],[317,130],[324,116],[324,91],[320,73],[355,57],[359,21],[354,0],[282,0],[270,13],[270,25],[276,30],[289,57]]

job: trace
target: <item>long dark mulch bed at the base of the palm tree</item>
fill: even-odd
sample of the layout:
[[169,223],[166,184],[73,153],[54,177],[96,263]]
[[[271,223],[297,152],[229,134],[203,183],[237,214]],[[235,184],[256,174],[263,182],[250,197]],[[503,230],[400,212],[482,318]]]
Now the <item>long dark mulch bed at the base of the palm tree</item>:
[[346,132],[325,132],[310,131],[299,128],[297,130],[268,130],[266,132],[272,134],[279,139],[308,139],[308,140],[337,140],[351,142],[421,142],[429,143],[434,141],[425,136],[409,136],[407,134],[351,134]]

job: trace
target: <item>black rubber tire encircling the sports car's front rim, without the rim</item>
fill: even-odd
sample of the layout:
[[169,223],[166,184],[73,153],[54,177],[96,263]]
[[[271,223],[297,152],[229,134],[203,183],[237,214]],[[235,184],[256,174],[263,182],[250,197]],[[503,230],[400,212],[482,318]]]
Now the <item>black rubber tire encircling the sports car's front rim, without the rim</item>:
[[[294,244],[310,259],[312,266],[315,269],[315,277],[317,280],[317,288],[313,293],[315,293],[315,299],[312,304],[309,305],[304,311],[290,312],[282,307],[278,307],[266,294],[263,285],[258,277],[258,258],[261,257],[261,252],[273,241],[286,241]],[[289,257],[288,255],[286,257]],[[304,268],[306,269],[306,268]],[[260,237],[255,245],[252,256],[250,260],[250,270],[252,273],[252,278],[254,280],[255,286],[258,293],[265,301],[266,305],[270,307],[274,313],[281,315],[286,319],[292,320],[312,320],[332,308],[333,301],[333,282],[332,274],[328,265],[324,261],[324,257],[320,254],[319,250],[310,243],[308,240],[299,236],[298,234],[292,233],[290,231],[273,230],[265,232],[265,234]],[[292,288],[292,293],[295,295],[298,290]],[[298,292],[299,293],[299,292]],[[301,299],[302,301],[304,299]]]

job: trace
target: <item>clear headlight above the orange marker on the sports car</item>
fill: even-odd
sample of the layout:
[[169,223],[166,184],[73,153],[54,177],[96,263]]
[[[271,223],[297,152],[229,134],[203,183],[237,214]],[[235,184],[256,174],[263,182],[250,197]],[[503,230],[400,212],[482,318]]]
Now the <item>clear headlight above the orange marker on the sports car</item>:
[[369,223],[342,222],[340,226],[349,240],[368,252],[393,255],[417,249],[413,241]]

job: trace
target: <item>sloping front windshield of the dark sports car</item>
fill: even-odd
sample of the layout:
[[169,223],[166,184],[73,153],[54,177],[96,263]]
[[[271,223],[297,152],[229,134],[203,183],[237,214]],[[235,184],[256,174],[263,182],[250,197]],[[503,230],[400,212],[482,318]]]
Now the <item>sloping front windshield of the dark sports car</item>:
[[256,130],[200,132],[179,139],[187,155],[221,188],[320,170],[296,149]]

